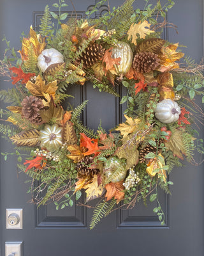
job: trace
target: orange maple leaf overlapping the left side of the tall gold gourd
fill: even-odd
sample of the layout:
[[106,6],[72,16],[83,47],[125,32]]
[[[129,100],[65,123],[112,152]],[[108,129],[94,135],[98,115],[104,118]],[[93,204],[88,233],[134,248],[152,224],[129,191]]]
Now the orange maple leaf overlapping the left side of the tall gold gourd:
[[113,49],[113,47],[106,50],[105,54],[103,56],[103,63],[105,63],[105,76],[106,76],[107,71],[115,72],[114,65],[120,65],[121,58],[119,57],[119,58],[113,59],[112,58],[112,49]]

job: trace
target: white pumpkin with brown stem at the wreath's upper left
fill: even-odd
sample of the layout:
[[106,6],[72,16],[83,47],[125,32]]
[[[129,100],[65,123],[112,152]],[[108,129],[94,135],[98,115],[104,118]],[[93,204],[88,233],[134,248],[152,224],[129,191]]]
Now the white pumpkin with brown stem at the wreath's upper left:
[[38,68],[41,72],[45,72],[47,67],[52,64],[64,62],[64,56],[61,52],[57,51],[54,48],[45,49],[38,56]]

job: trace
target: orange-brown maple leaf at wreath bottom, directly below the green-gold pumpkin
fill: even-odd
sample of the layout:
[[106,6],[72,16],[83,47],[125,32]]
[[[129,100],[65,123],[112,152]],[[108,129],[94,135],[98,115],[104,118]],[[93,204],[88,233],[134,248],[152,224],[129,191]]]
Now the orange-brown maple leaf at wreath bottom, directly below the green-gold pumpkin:
[[113,183],[110,182],[106,184],[106,201],[109,201],[113,197],[117,200],[117,204],[124,198],[124,186],[123,186],[123,180],[120,180],[119,182]]

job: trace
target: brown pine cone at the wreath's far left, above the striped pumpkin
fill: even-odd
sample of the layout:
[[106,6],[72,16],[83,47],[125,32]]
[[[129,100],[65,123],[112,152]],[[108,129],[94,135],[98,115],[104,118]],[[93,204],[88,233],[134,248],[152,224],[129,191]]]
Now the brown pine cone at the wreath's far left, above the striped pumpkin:
[[44,108],[43,102],[41,99],[35,96],[26,96],[21,102],[22,105],[22,116],[29,120],[33,124],[39,124],[42,122],[40,116],[40,109]]

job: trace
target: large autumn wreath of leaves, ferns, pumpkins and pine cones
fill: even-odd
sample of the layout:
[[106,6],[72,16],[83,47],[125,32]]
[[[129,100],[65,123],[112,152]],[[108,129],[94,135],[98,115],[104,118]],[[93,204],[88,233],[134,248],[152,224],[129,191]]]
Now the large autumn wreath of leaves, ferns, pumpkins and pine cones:
[[[5,160],[17,154],[23,161],[17,166],[33,179],[29,191],[38,207],[50,200],[56,209],[72,206],[83,190],[86,198],[79,204],[99,198],[91,228],[115,205],[129,209],[147,198],[157,200],[153,211],[163,225],[157,188],[170,193],[173,167],[182,166],[184,158],[195,163],[194,150],[204,152],[193,126],[203,118],[194,101],[195,95],[204,101],[203,66],[184,58],[179,44],[161,39],[163,28],[173,26],[165,20],[173,1],[146,4],[144,10],[134,10],[133,2],[91,19],[103,0],[77,20],[61,12],[67,4],[60,0],[53,4],[59,15],[46,6],[39,31],[30,28],[18,53],[4,38],[8,48],[0,74],[14,86],[0,91],[1,100],[11,105],[1,109],[7,124],[0,130],[15,152],[1,154]],[[87,101],[62,108],[71,96],[69,86],[85,86],[85,81],[115,97],[120,97],[118,86],[126,88],[122,124],[108,132],[99,124],[92,131],[80,120]]]

